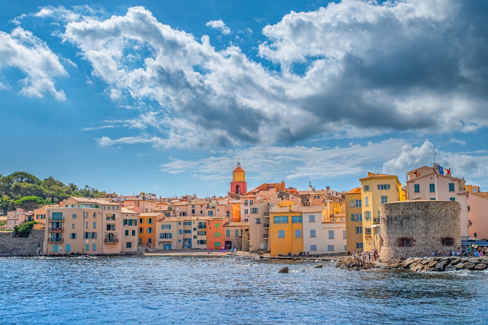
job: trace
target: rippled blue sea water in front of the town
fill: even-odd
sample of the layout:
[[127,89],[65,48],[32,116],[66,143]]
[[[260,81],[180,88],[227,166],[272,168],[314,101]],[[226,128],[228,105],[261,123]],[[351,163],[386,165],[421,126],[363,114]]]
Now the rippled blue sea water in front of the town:
[[[486,271],[311,267],[318,263],[0,258],[0,323],[488,324]],[[290,273],[279,274],[283,266]]]

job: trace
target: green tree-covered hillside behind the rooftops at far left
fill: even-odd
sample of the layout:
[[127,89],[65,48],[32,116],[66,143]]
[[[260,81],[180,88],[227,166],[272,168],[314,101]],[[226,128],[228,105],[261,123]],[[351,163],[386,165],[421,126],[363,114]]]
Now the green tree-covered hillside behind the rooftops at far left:
[[84,188],[73,183],[66,185],[52,176],[40,180],[26,172],[7,176],[0,173],[0,214],[16,208],[32,210],[44,204],[57,204],[70,196],[103,197],[105,191],[88,185]]

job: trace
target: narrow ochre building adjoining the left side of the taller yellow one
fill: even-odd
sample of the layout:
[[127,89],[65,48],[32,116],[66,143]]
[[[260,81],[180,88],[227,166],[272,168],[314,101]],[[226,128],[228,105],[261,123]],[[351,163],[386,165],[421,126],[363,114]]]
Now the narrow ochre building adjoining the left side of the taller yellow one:
[[361,206],[356,207],[356,202],[361,201],[361,188],[346,192],[345,198],[346,203],[351,202],[346,204],[347,252],[350,255],[363,250],[363,211]]

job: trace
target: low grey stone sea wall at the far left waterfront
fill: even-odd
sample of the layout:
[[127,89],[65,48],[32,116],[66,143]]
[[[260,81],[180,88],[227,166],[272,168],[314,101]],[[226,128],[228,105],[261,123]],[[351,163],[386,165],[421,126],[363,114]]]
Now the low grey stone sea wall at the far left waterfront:
[[37,255],[36,246],[44,242],[44,229],[33,229],[28,238],[12,237],[11,231],[0,232],[0,256]]

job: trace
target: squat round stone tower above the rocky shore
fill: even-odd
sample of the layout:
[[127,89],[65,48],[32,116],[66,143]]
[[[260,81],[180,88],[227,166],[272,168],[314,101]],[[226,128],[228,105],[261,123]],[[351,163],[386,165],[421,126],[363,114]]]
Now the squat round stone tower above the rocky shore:
[[426,257],[461,246],[459,203],[412,200],[380,205],[381,260]]

